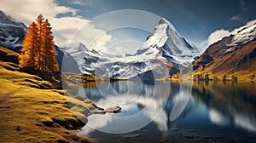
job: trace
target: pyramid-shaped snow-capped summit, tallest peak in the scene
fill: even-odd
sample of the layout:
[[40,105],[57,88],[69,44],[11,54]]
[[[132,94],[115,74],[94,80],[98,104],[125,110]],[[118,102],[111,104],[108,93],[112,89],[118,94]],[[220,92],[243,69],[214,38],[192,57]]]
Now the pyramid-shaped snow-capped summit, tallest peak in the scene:
[[183,37],[180,37],[172,24],[162,18],[154,31],[137,50],[137,55],[151,58],[165,57],[179,65],[188,66],[193,57],[199,55],[199,49],[191,46]]

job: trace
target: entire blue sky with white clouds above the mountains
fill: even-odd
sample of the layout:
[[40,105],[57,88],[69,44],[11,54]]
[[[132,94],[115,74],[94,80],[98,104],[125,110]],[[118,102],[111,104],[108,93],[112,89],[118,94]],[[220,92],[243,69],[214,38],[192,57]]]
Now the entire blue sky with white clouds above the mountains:
[[[94,22],[114,10],[136,9],[164,17],[181,37],[206,49],[222,37],[236,33],[241,26],[256,22],[255,8],[254,0],[0,0],[0,9],[26,26],[38,14],[43,14],[53,27],[55,43],[61,47],[68,47],[73,37],[79,37],[76,40],[91,49],[119,51],[113,54],[134,53],[156,24],[152,20],[152,24],[147,25],[145,21],[147,31],[131,27],[110,31],[108,26],[116,21],[101,19]],[[81,29],[84,34],[76,34]],[[96,43],[92,44],[96,38]],[[127,41],[131,41],[133,48],[119,44]]]

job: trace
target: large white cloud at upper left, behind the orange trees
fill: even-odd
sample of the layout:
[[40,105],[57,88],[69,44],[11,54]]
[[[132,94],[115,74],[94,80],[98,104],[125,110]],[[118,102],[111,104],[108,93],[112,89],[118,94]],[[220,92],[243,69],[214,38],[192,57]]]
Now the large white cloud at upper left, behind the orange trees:
[[[55,0],[0,0],[0,3],[0,9],[3,10],[4,13],[9,14],[15,20],[24,22],[26,26],[29,26],[32,21],[36,20],[38,14],[43,14],[44,18],[49,19],[53,28],[52,31],[55,36],[55,43],[61,47],[67,46],[76,31],[86,24],[86,27],[84,27],[86,31],[84,31],[78,39],[86,45],[102,33],[105,33],[105,31],[97,29],[92,24],[88,24],[90,20],[85,20],[80,15],[77,15],[78,9],[60,6],[55,3]],[[87,4],[89,4],[89,1]],[[67,13],[71,13],[73,16],[56,17],[57,14]],[[110,35],[102,35],[102,37],[96,41],[95,49],[104,49],[105,44],[108,43],[110,39]]]

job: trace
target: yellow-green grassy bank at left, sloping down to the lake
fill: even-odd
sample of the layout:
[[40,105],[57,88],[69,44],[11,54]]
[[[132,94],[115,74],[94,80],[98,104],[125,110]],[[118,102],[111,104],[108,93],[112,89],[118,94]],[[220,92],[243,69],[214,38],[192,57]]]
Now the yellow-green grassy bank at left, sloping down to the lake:
[[[0,50],[3,53],[5,49]],[[0,61],[0,142],[90,142],[73,130],[84,126],[75,114],[86,121],[86,115],[80,112],[88,115],[93,108],[91,102],[65,96],[62,90],[47,89],[51,83],[18,72],[18,68],[12,62]],[[38,89],[42,86],[46,89]],[[70,109],[67,100],[81,105],[78,112]]]

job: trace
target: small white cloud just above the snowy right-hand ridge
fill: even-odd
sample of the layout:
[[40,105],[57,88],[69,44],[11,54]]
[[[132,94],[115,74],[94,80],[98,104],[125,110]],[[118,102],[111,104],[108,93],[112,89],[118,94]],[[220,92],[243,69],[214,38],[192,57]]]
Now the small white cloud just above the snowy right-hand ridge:
[[209,35],[207,40],[205,40],[199,44],[199,47],[202,49],[207,49],[207,47],[209,45],[211,45],[212,43],[218,42],[218,40],[221,40],[223,37],[230,36],[231,34],[236,34],[238,31],[241,31],[243,28],[252,26],[255,23],[256,23],[256,20],[248,21],[245,26],[238,27],[238,28],[234,29],[233,31],[228,31],[228,30],[224,30],[224,29],[213,31]]

